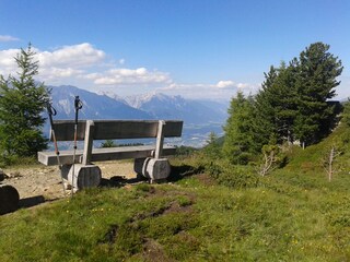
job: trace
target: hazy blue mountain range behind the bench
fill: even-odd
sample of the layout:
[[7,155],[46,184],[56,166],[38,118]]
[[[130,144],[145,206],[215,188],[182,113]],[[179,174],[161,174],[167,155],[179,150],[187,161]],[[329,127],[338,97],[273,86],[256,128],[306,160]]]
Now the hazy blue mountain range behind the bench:
[[[113,93],[92,93],[71,85],[48,86],[51,90],[55,120],[74,119],[74,98],[83,106],[79,119],[163,119],[183,120],[183,136],[177,144],[200,147],[210,132],[222,134],[229,103],[186,99],[161,93],[119,97]],[[44,133],[48,134],[46,123]]]

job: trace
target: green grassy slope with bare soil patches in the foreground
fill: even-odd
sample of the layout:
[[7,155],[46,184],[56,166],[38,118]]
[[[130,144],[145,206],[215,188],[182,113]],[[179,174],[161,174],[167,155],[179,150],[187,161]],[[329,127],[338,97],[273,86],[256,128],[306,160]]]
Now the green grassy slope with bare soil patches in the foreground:
[[253,189],[200,175],[83,191],[2,216],[0,261],[349,261],[350,151],[331,182],[320,167],[341,132],[294,150]]

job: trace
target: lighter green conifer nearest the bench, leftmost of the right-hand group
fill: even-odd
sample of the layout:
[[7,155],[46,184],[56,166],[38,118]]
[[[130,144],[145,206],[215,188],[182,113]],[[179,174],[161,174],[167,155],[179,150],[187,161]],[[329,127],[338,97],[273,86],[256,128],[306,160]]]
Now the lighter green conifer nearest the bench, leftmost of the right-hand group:
[[242,92],[231,100],[222,151],[233,164],[246,164],[255,148],[253,108],[253,97],[245,98]]

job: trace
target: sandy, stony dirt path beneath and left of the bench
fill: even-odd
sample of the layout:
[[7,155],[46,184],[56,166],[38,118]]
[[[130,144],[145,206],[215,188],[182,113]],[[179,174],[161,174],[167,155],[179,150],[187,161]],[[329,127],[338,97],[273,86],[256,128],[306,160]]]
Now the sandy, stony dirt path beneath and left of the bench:
[[[131,162],[102,162],[98,163],[104,181],[136,178]],[[59,168],[37,165],[33,167],[4,168],[7,175],[3,184],[16,188],[21,199],[40,196],[45,200],[55,200],[65,196]],[[70,190],[66,190],[66,195]]]

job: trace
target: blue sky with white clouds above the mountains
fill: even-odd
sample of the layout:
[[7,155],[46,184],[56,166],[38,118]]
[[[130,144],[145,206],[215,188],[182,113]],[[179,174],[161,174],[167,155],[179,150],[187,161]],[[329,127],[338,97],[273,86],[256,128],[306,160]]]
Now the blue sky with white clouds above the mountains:
[[39,80],[120,96],[162,92],[230,98],[323,41],[345,66],[350,96],[350,1],[0,0],[0,73],[31,41]]

